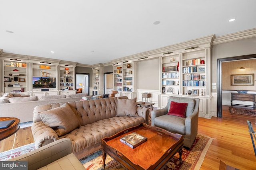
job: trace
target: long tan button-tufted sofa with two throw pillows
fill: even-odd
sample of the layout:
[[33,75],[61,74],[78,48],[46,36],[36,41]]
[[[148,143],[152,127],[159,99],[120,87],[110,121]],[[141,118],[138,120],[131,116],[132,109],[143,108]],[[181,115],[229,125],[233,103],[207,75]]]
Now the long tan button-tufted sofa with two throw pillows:
[[36,106],[32,134],[36,148],[68,138],[82,158],[100,149],[101,139],[124,129],[148,124],[149,110],[126,96]]

